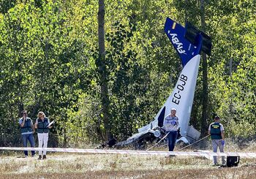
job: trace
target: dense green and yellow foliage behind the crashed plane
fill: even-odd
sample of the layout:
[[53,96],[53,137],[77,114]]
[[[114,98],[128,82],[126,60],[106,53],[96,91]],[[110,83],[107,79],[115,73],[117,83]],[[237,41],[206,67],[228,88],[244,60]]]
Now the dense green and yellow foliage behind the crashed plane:
[[[254,0],[205,1],[208,121],[227,135],[255,134]],[[97,69],[98,1],[0,0],[0,145],[18,145],[25,109],[55,120],[51,145],[104,140]],[[111,132],[124,140],[154,118],[181,71],[163,27],[170,17],[201,26],[200,1],[105,0],[105,49]],[[202,69],[191,123],[201,129]]]

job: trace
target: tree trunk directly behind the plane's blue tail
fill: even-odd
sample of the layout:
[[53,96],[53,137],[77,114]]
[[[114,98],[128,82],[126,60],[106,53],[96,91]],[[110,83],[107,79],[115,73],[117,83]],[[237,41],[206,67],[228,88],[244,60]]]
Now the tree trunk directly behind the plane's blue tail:
[[[202,31],[206,29],[205,20],[205,6],[204,0],[200,0],[200,12],[201,12],[201,27]],[[201,121],[201,133],[204,135],[207,133],[207,116],[208,116],[208,72],[207,72],[207,59],[206,53],[203,53],[203,102],[202,102],[202,121]]]

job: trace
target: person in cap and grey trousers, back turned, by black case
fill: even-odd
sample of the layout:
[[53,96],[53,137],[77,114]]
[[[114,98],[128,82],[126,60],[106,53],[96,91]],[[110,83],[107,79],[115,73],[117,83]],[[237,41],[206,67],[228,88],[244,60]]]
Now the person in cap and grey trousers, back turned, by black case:
[[[211,143],[214,148],[214,152],[217,153],[218,148],[220,152],[224,152],[224,127],[222,123],[220,123],[220,118],[218,115],[214,117],[214,123],[210,124],[208,128],[208,134],[211,134]],[[218,165],[217,156],[214,156],[214,165]],[[225,165],[225,156],[222,156],[222,165]]]

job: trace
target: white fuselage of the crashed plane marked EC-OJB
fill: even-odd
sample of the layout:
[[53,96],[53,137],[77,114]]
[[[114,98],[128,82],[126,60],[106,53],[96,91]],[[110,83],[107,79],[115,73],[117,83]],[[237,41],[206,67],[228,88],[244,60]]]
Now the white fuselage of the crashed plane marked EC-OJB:
[[168,97],[161,110],[157,113],[154,121],[147,126],[138,129],[138,132],[144,132],[148,129],[158,126],[159,115],[165,107],[165,115],[170,113],[171,108],[176,108],[176,116],[179,120],[180,134],[187,137],[189,118],[192,110],[192,104],[195,94],[195,85],[197,83],[198,68],[200,64],[200,55],[194,56],[181,71],[172,94]]

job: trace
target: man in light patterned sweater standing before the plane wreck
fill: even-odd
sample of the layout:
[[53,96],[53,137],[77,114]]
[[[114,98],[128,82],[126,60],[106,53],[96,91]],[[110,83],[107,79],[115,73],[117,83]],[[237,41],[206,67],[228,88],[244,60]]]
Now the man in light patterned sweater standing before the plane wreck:
[[165,117],[163,126],[165,131],[169,132],[167,135],[169,151],[173,151],[178,137],[178,117],[175,108],[172,108],[170,114]]

